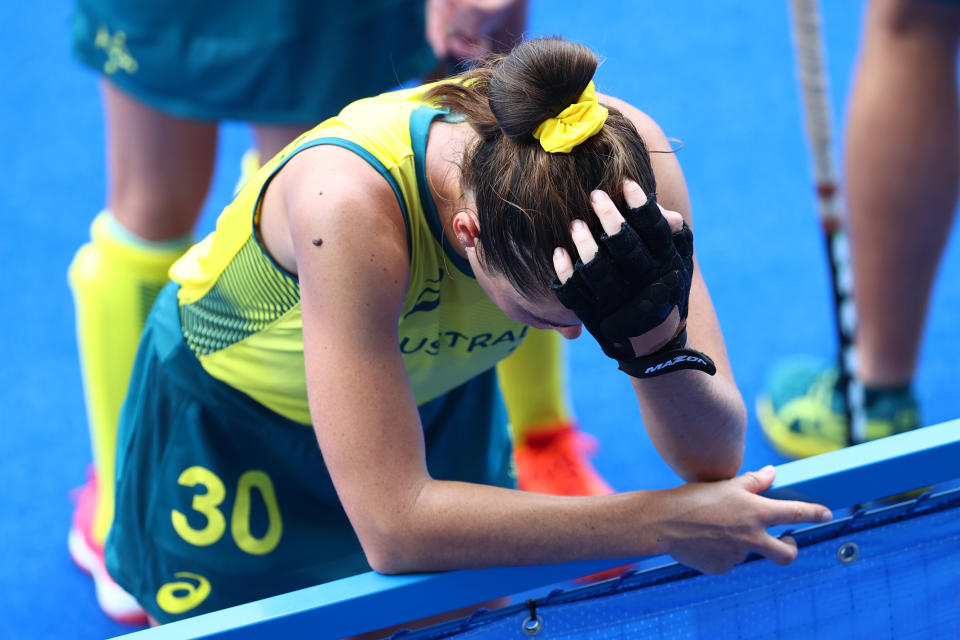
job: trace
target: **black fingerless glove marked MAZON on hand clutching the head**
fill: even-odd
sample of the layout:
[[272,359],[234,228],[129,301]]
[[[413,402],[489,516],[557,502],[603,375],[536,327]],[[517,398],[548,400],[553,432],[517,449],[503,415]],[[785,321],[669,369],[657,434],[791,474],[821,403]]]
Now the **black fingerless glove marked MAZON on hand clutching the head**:
[[[600,237],[597,255],[579,260],[573,275],[551,288],[577,314],[603,352],[635,378],[650,378],[678,369],[717,372],[708,356],[686,348],[687,302],[693,278],[693,232],[684,223],[678,233],[650,194],[642,206],[628,209],[620,231]],[[681,327],[654,353],[638,354],[631,338],[658,326],[674,307]]]

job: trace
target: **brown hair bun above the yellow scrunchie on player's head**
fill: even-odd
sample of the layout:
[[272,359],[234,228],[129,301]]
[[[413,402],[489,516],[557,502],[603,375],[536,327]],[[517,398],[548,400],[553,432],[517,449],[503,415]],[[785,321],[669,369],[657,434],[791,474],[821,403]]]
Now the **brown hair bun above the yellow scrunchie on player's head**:
[[511,140],[533,142],[533,131],[577,100],[593,79],[597,56],[560,38],[517,45],[490,78],[490,110]]

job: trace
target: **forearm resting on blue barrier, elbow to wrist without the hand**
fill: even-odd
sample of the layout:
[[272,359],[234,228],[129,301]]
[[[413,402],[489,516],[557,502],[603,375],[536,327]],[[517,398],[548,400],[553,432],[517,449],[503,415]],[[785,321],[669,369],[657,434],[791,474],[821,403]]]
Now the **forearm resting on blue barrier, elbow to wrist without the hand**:
[[429,480],[389,530],[363,540],[364,550],[383,573],[659,554],[665,499],[662,491],[568,497]]

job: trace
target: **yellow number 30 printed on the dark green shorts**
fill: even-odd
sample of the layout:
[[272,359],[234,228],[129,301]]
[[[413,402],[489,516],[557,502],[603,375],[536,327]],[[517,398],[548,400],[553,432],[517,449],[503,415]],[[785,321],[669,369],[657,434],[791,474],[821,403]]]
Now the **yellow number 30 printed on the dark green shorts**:
[[[227,529],[227,520],[219,506],[227,496],[223,481],[215,473],[204,467],[194,466],[183,470],[177,482],[185,487],[201,485],[206,493],[193,496],[190,505],[207,519],[203,529],[194,529],[187,522],[187,517],[173,509],[170,519],[173,528],[192,545],[206,547],[219,540]],[[256,538],[250,532],[250,501],[253,489],[260,492],[263,504],[267,508],[267,532],[262,538]],[[273,489],[273,482],[263,471],[244,471],[237,481],[237,499],[233,504],[230,515],[230,533],[237,546],[252,555],[264,555],[273,551],[280,543],[283,535],[283,519],[280,516],[280,506],[277,503],[277,494]]]

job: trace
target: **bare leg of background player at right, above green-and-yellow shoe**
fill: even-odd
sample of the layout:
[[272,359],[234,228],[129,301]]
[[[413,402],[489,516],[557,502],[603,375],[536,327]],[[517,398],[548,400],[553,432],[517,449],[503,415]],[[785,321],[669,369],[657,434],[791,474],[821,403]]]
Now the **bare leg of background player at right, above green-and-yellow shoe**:
[[960,5],[875,1],[866,20],[845,144],[858,373],[904,387],[957,205]]

